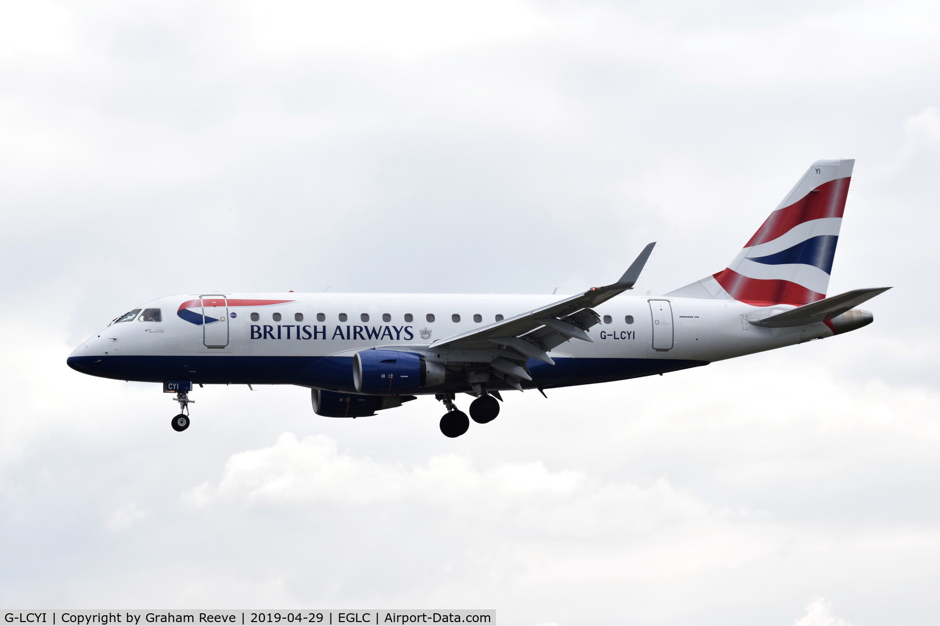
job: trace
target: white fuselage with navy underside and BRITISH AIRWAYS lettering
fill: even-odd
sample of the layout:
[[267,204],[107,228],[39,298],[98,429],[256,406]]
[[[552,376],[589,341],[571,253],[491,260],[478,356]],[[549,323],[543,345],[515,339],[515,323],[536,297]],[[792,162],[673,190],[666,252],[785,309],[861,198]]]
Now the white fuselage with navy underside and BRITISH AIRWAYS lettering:
[[[216,306],[203,309],[212,298]],[[77,348],[69,363],[86,374],[122,380],[294,384],[352,391],[352,356],[358,351],[414,349],[447,364],[460,357],[447,351],[436,355],[436,342],[559,298],[218,292],[171,296],[140,307],[159,309],[159,322],[152,321],[151,314],[150,321],[138,315],[133,321],[112,323]],[[748,323],[791,308],[756,307],[733,299],[620,295],[595,308],[603,321],[589,329],[593,343],[572,339],[557,346],[549,353],[554,366],[531,359],[533,380],[526,386],[562,387],[659,374],[833,334],[823,323],[790,328]],[[200,315],[212,323],[202,324]],[[492,384],[493,389],[508,389],[496,380]],[[462,381],[449,382],[448,389],[462,390]]]

